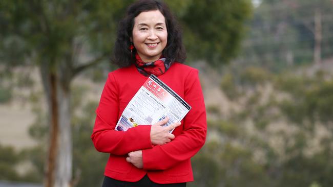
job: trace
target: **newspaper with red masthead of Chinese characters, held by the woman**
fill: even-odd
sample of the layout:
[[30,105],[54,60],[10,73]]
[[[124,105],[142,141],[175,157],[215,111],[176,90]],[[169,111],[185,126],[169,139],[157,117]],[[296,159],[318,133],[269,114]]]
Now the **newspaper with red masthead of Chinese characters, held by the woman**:
[[[122,112],[115,130],[127,131],[138,125],[150,125],[169,117],[169,126],[180,122],[191,106],[168,85],[151,75]],[[170,132],[172,132],[171,130]]]

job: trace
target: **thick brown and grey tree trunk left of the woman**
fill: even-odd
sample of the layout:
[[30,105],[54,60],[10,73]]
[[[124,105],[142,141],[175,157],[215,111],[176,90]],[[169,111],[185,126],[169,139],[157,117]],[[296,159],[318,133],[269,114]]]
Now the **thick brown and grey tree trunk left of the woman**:
[[[50,116],[50,138],[45,186],[69,187],[72,180],[72,134],[70,123],[70,77],[68,71],[54,71],[49,63],[41,65]],[[53,71],[52,71],[53,70]]]

